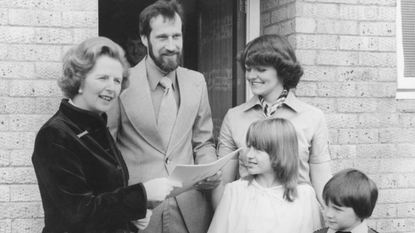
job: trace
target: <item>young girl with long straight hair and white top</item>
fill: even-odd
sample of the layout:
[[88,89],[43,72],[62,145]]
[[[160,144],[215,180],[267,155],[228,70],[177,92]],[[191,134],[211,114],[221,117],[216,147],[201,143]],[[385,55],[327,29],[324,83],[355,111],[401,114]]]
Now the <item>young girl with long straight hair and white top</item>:
[[324,220],[314,189],[298,184],[298,142],[294,126],[282,118],[252,123],[246,135],[247,179],[229,183],[209,233],[302,233]]

